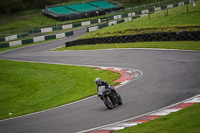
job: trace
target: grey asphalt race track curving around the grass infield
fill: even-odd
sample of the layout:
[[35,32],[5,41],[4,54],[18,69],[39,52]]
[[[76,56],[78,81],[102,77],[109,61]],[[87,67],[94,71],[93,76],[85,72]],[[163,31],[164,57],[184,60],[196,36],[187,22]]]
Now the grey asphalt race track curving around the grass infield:
[[48,52],[85,34],[85,30],[79,29],[67,39],[1,53],[0,59],[139,69],[142,77],[118,89],[124,104],[108,110],[102,101],[93,97],[0,121],[0,133],[74,133],[148,113],[200,94],[200,52],[153,49]]

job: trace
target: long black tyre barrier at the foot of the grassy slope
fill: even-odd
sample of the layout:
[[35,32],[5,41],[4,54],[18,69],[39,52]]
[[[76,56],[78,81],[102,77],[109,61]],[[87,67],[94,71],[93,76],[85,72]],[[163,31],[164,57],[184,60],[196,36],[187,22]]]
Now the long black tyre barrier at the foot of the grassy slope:
[[66,42],[65,46],[94,45],[110,43],[151,42],[151,41],[200,41],[200,31],[159,32],[137,35],[110,36],[79,39]]

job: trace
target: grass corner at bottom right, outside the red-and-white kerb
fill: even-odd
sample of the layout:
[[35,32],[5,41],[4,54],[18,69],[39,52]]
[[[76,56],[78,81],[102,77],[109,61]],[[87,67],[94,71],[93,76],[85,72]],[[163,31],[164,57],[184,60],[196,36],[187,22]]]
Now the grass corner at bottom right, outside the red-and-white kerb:
[[199,133],[200,104],[115,133]]

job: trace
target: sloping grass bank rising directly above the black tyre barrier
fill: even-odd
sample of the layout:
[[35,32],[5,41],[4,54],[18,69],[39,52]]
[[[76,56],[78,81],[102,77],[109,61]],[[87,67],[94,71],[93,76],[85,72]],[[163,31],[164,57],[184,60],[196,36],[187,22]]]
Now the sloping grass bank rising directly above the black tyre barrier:
[[164,11],[148,16],[134,19],[133,22],[124,22],[118,25],[105,27],[103,29],[88,33],[79,39],[133,35],[152,32],[173,32],[173,31],[200,30],[200,1],[196,6],[189,5],[189,13],[186,13],[186,6],[169,9],[169,15],[165,16]]

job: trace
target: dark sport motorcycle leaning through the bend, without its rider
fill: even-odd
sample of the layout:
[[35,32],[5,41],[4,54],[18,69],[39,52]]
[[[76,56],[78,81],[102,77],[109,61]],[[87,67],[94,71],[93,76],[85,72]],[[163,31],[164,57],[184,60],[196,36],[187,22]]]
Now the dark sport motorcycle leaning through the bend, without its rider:
[[99,97],[108,109],[113,109],[117,105],[122,105],[122,98],[114,89],[106,89],[105,86],[99,86]]

